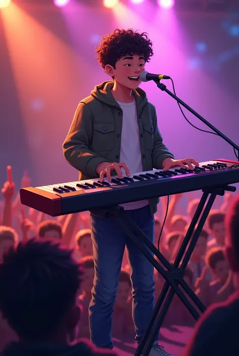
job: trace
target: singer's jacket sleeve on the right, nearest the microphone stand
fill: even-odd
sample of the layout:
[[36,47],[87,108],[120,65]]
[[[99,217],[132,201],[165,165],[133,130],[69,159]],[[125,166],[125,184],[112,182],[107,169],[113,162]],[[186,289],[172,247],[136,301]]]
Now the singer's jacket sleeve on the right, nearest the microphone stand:
[[154,147],[152,152],[153,168],[162,169],[162,162],[165,158],[170,157],[174,159],[174,156],[169,152],[168,148],[163,143],[163,138],[158,130],[157,125],[157,115],[154,108],[153,116],[153,127],[154,127]]

